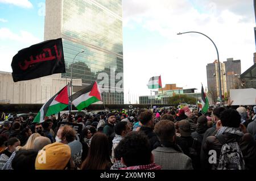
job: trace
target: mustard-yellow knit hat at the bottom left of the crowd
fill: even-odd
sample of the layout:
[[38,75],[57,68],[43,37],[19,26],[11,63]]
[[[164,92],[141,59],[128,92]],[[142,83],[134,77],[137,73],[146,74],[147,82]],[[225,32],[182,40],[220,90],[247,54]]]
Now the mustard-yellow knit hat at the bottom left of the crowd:
[[55,142],[44,146],[38,152],[35,161],[36,170],[63,170],[71,158],[71,149],[68,145]]

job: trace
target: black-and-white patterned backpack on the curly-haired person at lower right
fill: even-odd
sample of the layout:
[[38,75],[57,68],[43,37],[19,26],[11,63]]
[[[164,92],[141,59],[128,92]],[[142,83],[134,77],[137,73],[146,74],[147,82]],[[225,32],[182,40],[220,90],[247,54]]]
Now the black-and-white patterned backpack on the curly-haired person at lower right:
[[245,170],[245,161],[238,142],[225,142],[223,136],[216,137],[222,144],[217,170]]

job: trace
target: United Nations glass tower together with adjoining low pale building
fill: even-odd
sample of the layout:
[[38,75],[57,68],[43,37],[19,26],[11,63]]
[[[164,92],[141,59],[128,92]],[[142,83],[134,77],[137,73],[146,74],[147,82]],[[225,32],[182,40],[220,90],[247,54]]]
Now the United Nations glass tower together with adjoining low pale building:
[[72,75],[73,93],[97,81],[105,104],[123,104],[122,0],[46,0],[44,40],[60,37],[66,73],[14,83],[0,71],[0,102],[45,103]]

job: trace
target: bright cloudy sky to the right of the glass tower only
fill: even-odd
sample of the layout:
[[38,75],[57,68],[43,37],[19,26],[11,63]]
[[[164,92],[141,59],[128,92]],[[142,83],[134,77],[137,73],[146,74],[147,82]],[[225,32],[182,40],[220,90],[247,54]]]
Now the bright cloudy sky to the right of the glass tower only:
[[[146,83],[162,75],[162,83],[184,88],[207,86],[206,65],[241,60],[242,73],[255,52],[253,0],[123,0],[125,92],[148,92]],[[138,81],[136,81],[138,80]]]

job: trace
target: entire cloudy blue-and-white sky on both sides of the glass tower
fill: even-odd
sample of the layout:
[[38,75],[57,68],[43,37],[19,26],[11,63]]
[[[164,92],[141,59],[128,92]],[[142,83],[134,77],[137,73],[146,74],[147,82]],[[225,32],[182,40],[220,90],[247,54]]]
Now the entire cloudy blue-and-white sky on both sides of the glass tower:
[[[42,0],[0,0],[0,71],[12,71],[19,49],[43,41]],[[125,94],[150,95],[147,82],[200,89],[207,86],[206,65],[217,59],[207,37],[178,32],[199,31],[216,44],[220,61],[241,60],[242,72],[253,65],[253,0],[123,0]]]

